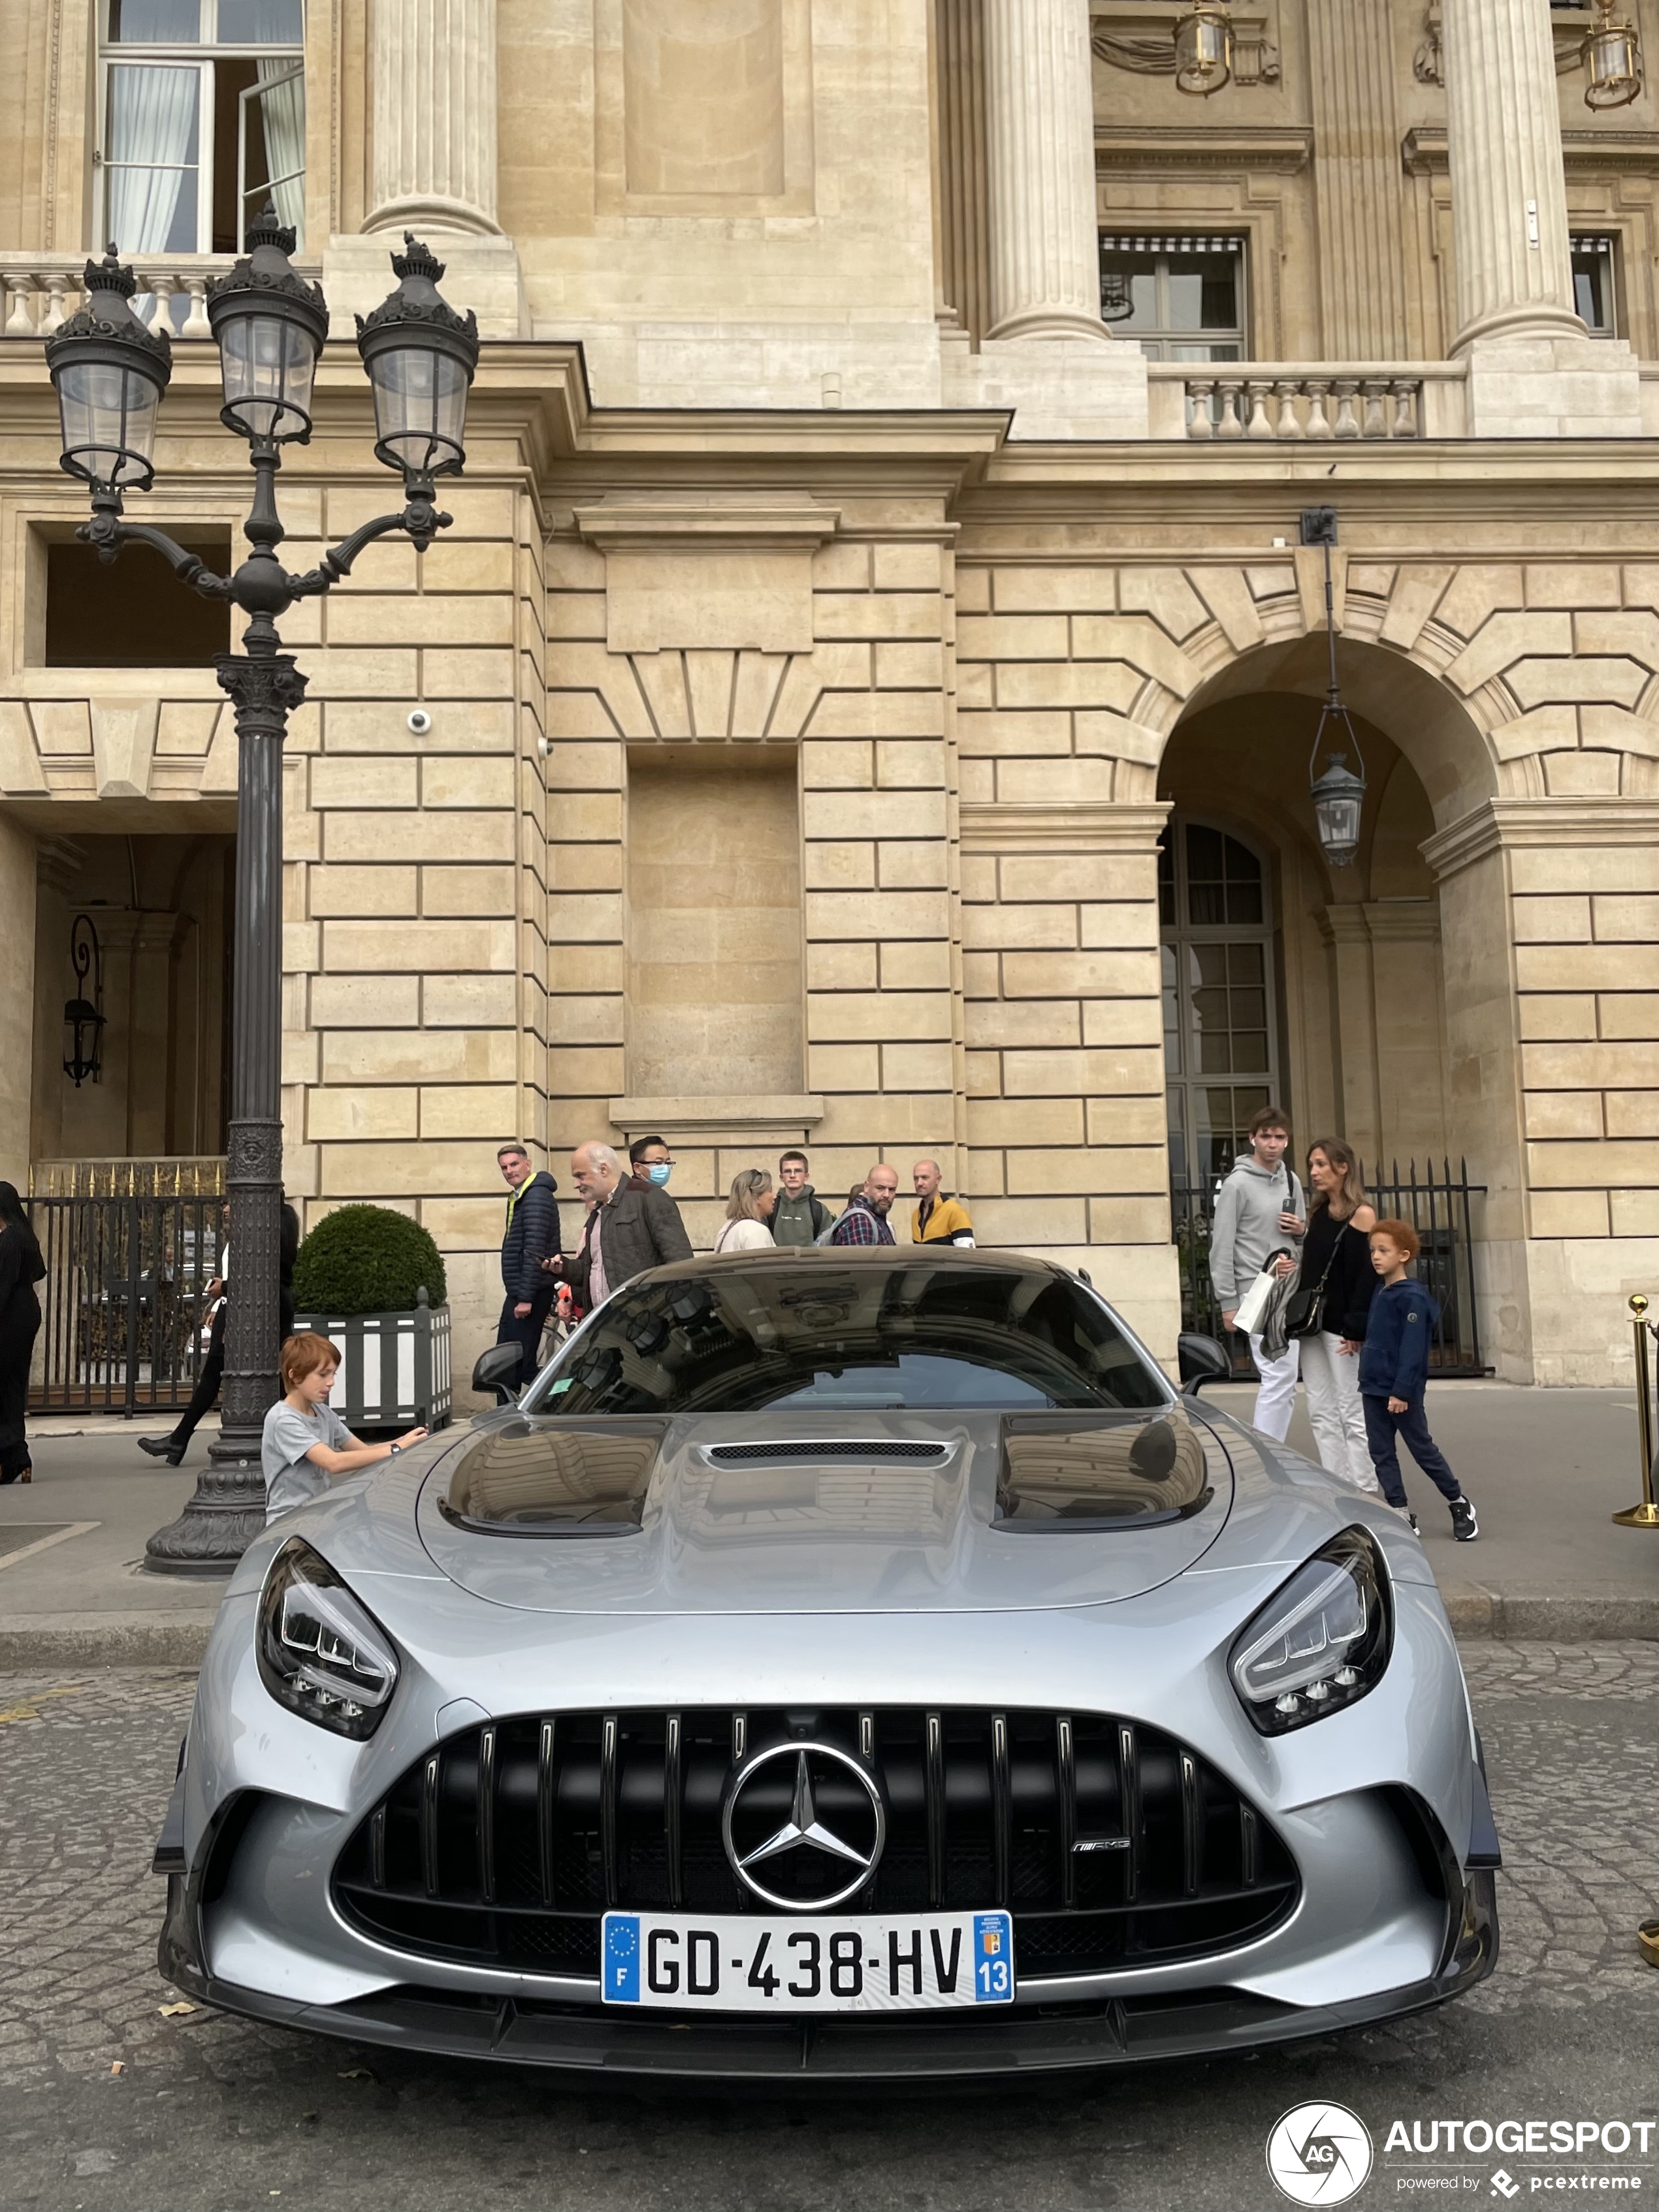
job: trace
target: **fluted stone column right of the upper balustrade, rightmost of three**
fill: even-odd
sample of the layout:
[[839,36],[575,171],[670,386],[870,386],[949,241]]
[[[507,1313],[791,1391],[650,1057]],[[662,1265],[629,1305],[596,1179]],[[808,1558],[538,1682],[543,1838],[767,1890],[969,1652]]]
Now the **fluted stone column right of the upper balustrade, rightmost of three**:
[[1453,356],[1480,338],[1582,338],[1546,0],[1444,0],[1458,263]]

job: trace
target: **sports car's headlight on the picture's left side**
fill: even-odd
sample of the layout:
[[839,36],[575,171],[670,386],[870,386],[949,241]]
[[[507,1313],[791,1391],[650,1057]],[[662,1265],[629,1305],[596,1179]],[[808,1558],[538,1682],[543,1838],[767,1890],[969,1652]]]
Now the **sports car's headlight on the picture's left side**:
[[398,1688],[398,1652],[327,1559],[290,1537],[259,1597],[259,1679],[279,1705],[336,1736],[372,1736]]

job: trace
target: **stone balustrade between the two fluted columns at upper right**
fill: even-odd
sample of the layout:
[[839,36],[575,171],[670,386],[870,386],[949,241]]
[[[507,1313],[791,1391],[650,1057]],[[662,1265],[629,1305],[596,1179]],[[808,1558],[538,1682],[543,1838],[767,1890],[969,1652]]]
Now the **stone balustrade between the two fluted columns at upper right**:
[[1148,363],[1152,436],[1347,440],[1462,436],[1462,363]]

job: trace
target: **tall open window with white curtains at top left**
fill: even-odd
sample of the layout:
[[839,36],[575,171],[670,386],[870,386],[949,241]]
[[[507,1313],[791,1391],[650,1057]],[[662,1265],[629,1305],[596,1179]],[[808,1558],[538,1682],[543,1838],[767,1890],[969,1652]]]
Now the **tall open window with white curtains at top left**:
[[102,0],[102,239],[239,254],[268,199],[305,234],[303,0]]

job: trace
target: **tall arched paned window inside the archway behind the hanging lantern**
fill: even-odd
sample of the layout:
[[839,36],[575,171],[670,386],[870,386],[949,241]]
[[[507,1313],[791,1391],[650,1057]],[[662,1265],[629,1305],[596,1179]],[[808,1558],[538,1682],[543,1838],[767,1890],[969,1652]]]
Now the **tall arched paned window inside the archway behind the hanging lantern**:
[[1214,823],[1175,816],[1157,856],[1170,1179],[1208,1188],[1279,1091],[1267,869]]

